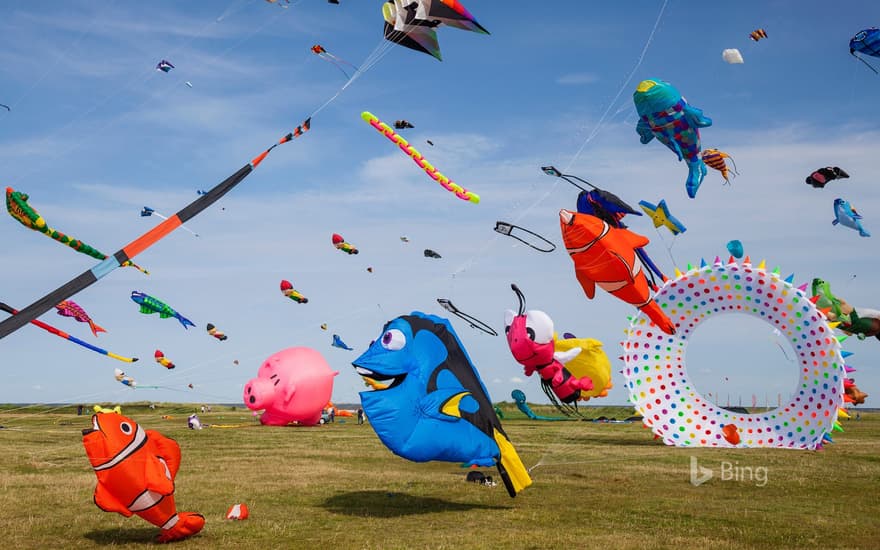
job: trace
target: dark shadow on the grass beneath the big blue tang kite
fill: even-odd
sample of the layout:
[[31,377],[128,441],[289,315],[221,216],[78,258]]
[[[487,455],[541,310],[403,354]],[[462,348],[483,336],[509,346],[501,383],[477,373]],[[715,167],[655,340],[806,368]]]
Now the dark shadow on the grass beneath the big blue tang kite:
[[464,512],[467,510],[507,510],[508,506],[453,502],[434,497],[421,497],[386,491],[353,491],[338,493],[324,501],[325,510],[359,517],[399,517],[432,512]]

